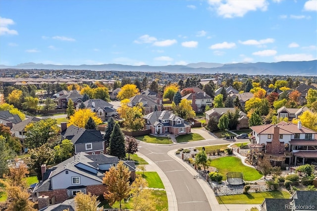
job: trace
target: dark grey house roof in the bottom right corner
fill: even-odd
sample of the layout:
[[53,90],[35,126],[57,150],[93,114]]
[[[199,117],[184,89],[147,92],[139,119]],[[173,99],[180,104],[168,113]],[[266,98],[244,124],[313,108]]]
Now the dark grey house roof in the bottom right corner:
[[295,191],[290,199],[264,199],[260,211],[309,211],[317,208],[317,191]]

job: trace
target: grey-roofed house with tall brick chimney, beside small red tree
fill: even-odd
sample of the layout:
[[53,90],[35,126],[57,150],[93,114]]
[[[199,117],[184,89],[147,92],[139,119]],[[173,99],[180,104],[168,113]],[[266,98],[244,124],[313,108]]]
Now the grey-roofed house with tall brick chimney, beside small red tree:
[[193,110],[196,113],[205,112],[206,106],[212,106],[213,100],[212,98],[206,94],[206,92],[198,92],[198,93],[189,93],[182,97],[182,99],[186,99],[192,101]]

